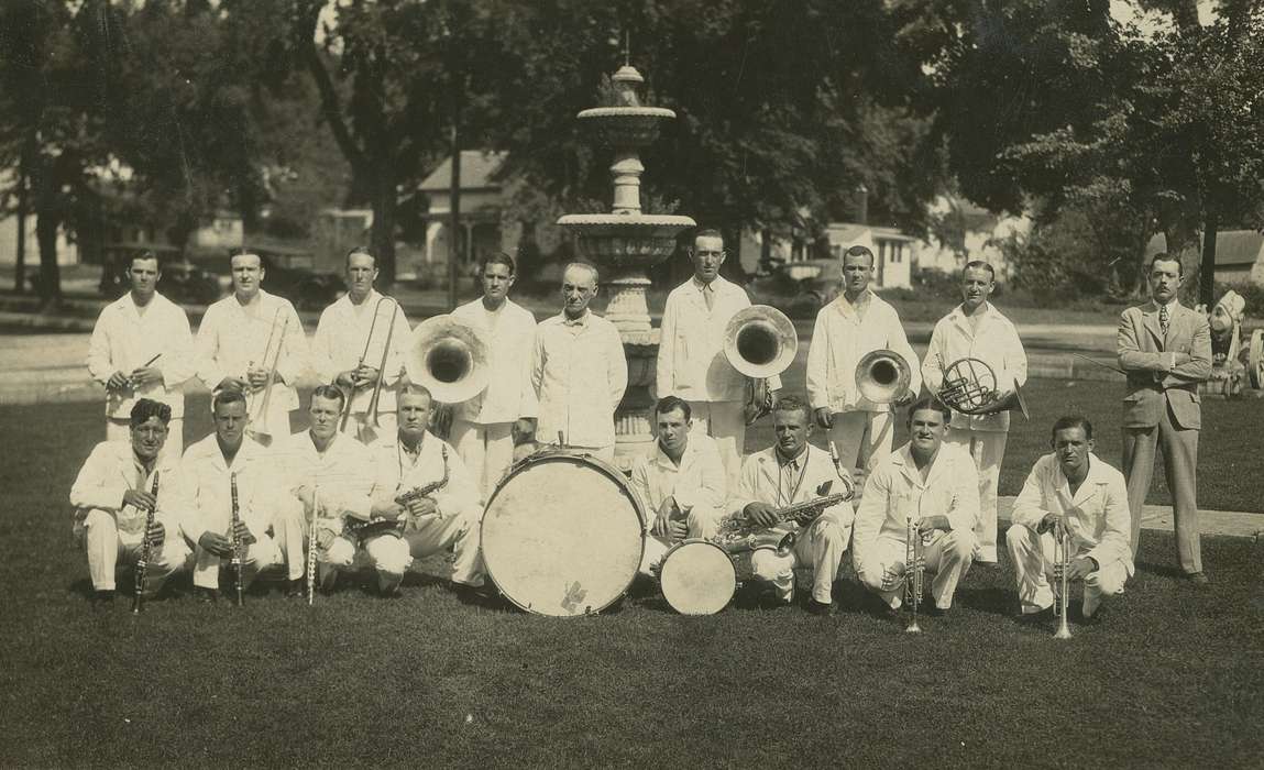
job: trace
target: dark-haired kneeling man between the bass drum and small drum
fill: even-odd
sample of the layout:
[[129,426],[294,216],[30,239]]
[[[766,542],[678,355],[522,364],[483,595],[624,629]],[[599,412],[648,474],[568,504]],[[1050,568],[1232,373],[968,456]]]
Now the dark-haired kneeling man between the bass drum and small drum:
[[651,537],[645,541],[642,571],[685,537],[714,537],[726,497],[726,470],[710,436],[690,435],[689,402],[659,400],[653,410],[657,441],[632,464],[632,489],[645,506]]

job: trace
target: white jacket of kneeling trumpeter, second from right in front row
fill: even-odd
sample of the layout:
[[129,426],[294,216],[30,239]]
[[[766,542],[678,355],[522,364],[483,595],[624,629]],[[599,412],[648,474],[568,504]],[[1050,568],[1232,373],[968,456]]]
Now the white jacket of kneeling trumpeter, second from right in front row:
[[930,473],[913,460],[909,445],[885,456],[865,483],[865,494],[856,511],[852,542],[857,571],[880,540],[905,542],[908,520],[947,516],[954,530],[972,531],[978,518],[978,473],[969,453],[940,444]]

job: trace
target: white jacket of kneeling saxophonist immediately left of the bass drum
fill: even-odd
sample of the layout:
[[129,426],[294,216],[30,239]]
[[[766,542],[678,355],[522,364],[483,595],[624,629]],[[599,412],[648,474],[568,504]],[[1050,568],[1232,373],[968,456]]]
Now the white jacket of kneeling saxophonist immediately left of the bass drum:
[[444,516],[468,516],[474,521],[482,518],[482,499],[469,469],[451,444],[439,436],[427,432],[416,458],[408,456],[397,436],[378,441],[370,448],[370,454],[375,470],[372,494],[374,501],[388,502],[401,492],[439,482],[444,478],[446,464],[447,483],[428,497]]

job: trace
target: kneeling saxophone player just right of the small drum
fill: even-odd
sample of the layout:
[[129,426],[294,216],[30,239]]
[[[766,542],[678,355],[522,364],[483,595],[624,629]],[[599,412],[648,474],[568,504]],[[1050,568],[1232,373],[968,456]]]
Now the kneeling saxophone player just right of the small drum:
[[781,523],[777,516],[781,508],[830,492],[837,494],[843,486],[837,483],[839,470],[829,453],[808,444],[811,411],[801,398],[786,396],[777,402],[772,408],[772,429],[777,443],[742,463],[737,496],[729,508],[752,526],[796,532],[794,547],[786,555],[755,551],[751,559],[753,577],[771,584],[776,598],[787,603],[794,598],[794,568],[810,565],[813,584],[808,611],[830,614],[834,579],[851,536],[852,506],[843,502],[825,508],[803,531],[796,531],[798,525]]

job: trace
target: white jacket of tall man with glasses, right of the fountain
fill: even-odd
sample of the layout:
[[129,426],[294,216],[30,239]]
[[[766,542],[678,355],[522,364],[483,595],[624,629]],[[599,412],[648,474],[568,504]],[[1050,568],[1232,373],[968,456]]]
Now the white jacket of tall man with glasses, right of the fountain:
[[[709,310],[705,292],[715,295]],[[671,290],[662,309],[655,393],[685,401],[744,401],[746,377],[724,355],[724,329],[750,306],[746,290],[719,276],[708,286],[690,278]],[[769,379],[771,389],[781,387],[780,378]]]

